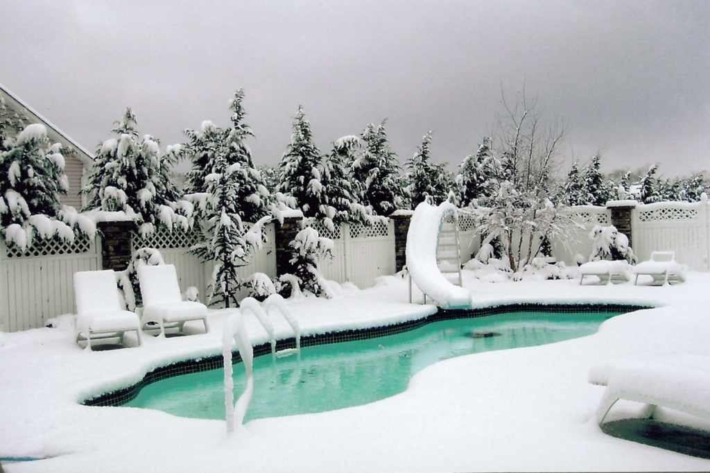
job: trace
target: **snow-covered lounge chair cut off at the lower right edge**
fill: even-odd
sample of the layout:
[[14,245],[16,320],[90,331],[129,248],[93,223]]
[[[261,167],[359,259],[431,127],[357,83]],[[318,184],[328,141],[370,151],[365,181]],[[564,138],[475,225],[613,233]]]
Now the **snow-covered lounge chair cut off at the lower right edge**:
[[599,425],[620,399],[645,403],[645,418],[661,406],[710,420],[710,357],[704,355],[606,361],[592,367],[589,382],[606,386],[596,410]]

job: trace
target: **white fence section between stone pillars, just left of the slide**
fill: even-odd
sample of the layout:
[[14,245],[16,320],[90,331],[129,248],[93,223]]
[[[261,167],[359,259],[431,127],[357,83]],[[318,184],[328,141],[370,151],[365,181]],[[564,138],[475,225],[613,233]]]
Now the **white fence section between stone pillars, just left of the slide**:
[[333,240],[333,259],[322,261],[323,276],[369,288],[378,276],[395,273],[395,231],[392,219],[372,225],[342,223],[330,230],[321,222],[307,222],[321,237]]

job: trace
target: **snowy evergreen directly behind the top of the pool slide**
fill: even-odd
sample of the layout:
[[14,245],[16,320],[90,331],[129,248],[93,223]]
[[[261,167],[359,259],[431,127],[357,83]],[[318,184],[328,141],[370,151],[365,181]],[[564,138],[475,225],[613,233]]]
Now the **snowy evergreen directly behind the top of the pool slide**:
[[405,164],[410,170],[407,175],[409,180],[407,190],[412,207],[424,202],[427,196],[431,198],[434,205],[439,205],[447,200],[452,188],[452,178],[446,165],[430,161],[431,143],[432,132],[430,131],[422,138],[422,144],[417,148],[412,159]]

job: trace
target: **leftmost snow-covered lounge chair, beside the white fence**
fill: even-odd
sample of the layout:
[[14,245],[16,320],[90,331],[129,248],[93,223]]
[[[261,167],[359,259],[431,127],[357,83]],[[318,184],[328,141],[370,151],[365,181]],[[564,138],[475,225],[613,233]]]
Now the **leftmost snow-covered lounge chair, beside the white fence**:
[[135,331],[141,344],[141,325],[138,315],[126,310],[119,297],[116,273],[79,271],[74,273],[74,295],[77,303],[77,343],[118,338],[124,342],[126,332]]

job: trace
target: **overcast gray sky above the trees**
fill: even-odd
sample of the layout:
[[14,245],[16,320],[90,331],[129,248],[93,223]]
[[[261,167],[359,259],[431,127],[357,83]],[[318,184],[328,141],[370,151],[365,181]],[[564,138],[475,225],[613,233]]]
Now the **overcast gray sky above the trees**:
[[501,87],[525,83],[569,124],[569,162],[710,169],[710,1],[0,0],[0,16],[0,83],[90,151],[125,107],[163,146],[226,126],[243,87],[257,164],[280,161],[302,104],[323,153],[387,118],[400,163],[433,130],[454,170]]

